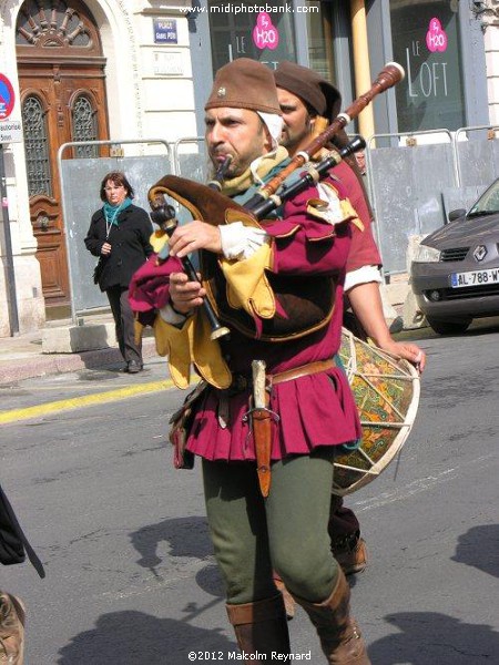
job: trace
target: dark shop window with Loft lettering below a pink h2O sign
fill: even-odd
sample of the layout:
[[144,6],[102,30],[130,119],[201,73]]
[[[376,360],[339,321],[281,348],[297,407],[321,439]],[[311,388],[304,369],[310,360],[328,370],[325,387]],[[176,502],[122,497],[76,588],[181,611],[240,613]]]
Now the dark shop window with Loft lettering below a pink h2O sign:
[[466,125],[458,3],[390,0],[394,58],[406,70],[396,89],[399,132]]

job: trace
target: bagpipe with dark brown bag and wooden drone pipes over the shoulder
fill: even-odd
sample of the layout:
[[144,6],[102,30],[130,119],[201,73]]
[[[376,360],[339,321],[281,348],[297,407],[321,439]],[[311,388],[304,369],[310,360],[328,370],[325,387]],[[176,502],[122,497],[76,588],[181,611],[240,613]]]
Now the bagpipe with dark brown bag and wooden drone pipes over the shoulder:
[[[312,157],[328,146],[334,136],[357,117],[375,96],[394,86],[403,78],[404,69],[397,63],[388,63],[377,75],[369,91],[355,100],[345,112],[339,113],[326,130],[313,139],[304,151],[297,153],[244,206],[221,193],[220,180],[223,177],[223,168],[218,170],[217,176],[208,185],[165,175],[149,191],[152,219],[167,235],[174,231],[175,211],[165,198],[169,196],[187,208],[194,219],[215,226],[237,219],[248,226],[265,228],[265,219],[274,211],[326,177],[342,160],[365,147],[364,140],[356,137],[339,151],[328,151],[319,163],[312,165]],[[305,165],[308,165],[308,168],[288,184],[289,176]],[[261,260],[257,264],[259,259],[263,263]],[[212,339],[223,338],[228,334],[227,326],[232,326],[246,337],[278,342],[304,337],[328,324],[334,309],[333,279],[327,280],[323,276],[312,276],[307,279],[299,276],[291,279],[287,276],[283,279],[272,270],[264,270],[268,266],[263,257],[255,256],[253,263],[257,264],[258,269],[252,269],[251,264],[241,265],[241,272],[247,268],[243,273],[242,282],[247,280],[249,275],[257,275],[252,288],[261,298],[259,305],[255,304],[255,298],[240,294],[237,289],[231,293],[231,289],[227,289],[227,275],[221,269],[218,257],[206,250],[200,252],[201,282],[206,289],[203,313],[208,320]],[[183,260],[183,266],[191,279],[197,279],[196,270],[189,258]]]

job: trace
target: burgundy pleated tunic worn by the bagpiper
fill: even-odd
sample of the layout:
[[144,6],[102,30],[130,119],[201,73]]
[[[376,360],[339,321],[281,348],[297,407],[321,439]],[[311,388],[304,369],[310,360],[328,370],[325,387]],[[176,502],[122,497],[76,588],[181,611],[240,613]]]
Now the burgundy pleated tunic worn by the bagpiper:
[[[350,224],[335,228],[310,217],[306,202],[317,197],[307,190],[285,205],[282,219],[269,222],[265,231],[273,237],[273,270],[293,277],[324,275],[335,277],[336,299],[330,321],[319,331],[301,339],[267,342],[244,337],[232,330],[223,341],[231,370],[246,377],[251,362],[263,359],[267,374],[277,374],[315,360],[333,358],[340,342],[343,282],[350,247]],[[153,259],[154,260],[154,259]],[[169,300],[167,275],[179,272],[177,259],[167,259],[161,268],[153,262],[132,279],[131,304],[135,311],[147,313]],[[197,405],[187,449],[208,460],[254,460],[255,450],[246,412],[251,390],[236,395],[210,388]],[[274,426],[272,459],[307,454],[320,446],[338,446],[361,434],[357,408],[340,368],[301,377],[273,387],[269,408],[279,420]]]

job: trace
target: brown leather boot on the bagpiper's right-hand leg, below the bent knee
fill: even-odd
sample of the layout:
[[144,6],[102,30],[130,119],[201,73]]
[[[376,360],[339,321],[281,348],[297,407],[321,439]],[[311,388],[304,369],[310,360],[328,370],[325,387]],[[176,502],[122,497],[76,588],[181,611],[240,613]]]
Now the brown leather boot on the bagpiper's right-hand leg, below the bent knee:
[[328,665],[370,665],[360,631],[350,616],[350,587],[342,570],[336,587],[323,603],[294,597],[316,627]]

